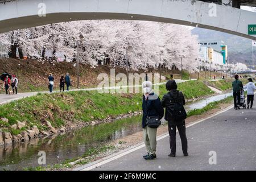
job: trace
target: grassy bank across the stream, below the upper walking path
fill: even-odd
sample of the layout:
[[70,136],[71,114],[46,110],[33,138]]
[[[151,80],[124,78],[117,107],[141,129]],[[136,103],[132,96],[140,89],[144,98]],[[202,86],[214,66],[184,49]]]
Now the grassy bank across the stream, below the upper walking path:
[[[203,81],[187,81],[178,84],[186,99],[199,98],[212,94]],[[164,85],[159,86],[159,95],[162,98],[166,93]],[[38,94],[23,98],[0,106],[0,117],[9,119],[9,123],[0,121],[2,131],[9,131],[13,135],[22,130],[38,126],[39,130],[47,130],[40,121],[47,119],[53,127],[65,126],[66,121],[90,122],[129,111],[141,110],[142,94],[101,94],[97,91],[77,91],[54,94]],[[27,126],[11,129],[17,121],[27,121]]]

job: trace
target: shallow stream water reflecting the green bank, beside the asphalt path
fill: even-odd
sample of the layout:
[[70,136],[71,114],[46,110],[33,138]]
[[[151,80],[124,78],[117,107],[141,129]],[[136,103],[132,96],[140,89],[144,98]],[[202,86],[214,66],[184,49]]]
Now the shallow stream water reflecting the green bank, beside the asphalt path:
[[[201,109],[210,102],[220,101],[232,93],[211,96],[191,102],[186,110]],[[142,131],[141,115],[120,119],[112,123],[84,127],[64,135],[38,138],[27,143],[0,146],[0,170],[22,170],[38,166],[38,152],[46,152],[47,165],[64,162],[81,156],[89,148],[102,146],[110,141]]]

